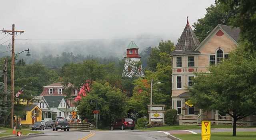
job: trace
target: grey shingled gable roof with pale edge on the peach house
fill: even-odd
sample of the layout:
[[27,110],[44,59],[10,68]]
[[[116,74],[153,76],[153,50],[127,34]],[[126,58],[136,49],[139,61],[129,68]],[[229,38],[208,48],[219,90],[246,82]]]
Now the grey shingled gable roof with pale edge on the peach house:
[[208,34],[208,36],[206,36],[206,38],[204,38],[204,40],[195,48],[194,51],[199,51],[200,48],[202,48],[201,46],[204,46],[205,43],[207,43],[211,36],[213,34],[216,34],[216,32],[218,32],[219,30],[221,30],[224,34],[226,34],[236,45],[238,45],[239,39],[240,39],[240,28],[238,27],[234,27],[232,28],[232,26],[227,26],[227,25],[222,25],[222,24],[218,24],[213,30],[212,32],[210,32],[210,34]]

